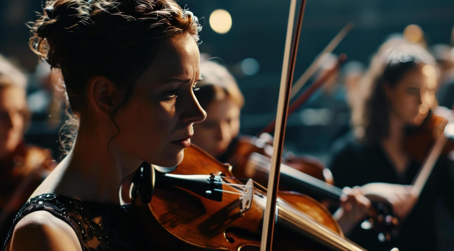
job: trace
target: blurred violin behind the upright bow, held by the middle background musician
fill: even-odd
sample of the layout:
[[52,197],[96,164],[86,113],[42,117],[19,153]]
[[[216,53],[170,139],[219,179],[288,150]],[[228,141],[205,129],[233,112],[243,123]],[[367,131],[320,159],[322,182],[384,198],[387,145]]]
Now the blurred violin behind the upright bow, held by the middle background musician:
[[[260,138],[249,137],[251,142],[250,145],[243,146],[242,149],[249,148],[251,150],[247,158],[242,158],[238,162],[243,168],[232,167],[232,173],[236,177],[241,178],[252,178],[259,184],[266,184],[268,182],[269,169],[271,165],[271,159],[262,152],[269,151],[265,150],[270,145],[265,145],[265,149],[261,148],[265,142]],[[253,150],[253,151],[252,151]],[[246,156],[246,155],[243,155]],[[307,163],[307,164],[306,164]],[[321,163],[321,162],[320,162]],[[333,183],[325,182],[324,177],[332,179],[331,172],[329,169],[321,169],[324,167],[323,164],[319,164],[319,161],[315,158],[307,157],[305,171],[285,164],[285,161],[281,164],[281,180],[283,181],[280,185],[281,191],[294,191],[297,193],[303,193],[315,198],[317,201],[321,201],[321,204],[327,206],[339,206],[342,189],[333,185]],[[310,164],[313,164],[311,166]],[[308,171],[318,171],[318,175],[322,179],[318,178],[314,173]],[[327,170],[328,172],[321,172],[320,170]],[[242,175],[242,176],[239,176]],[[394,216],[392,207],[382,202],[372,202],[373,207],[367,211],[368,218],[361,224],[361,227],[366,230],[374,230],[378,234],[378,240],[390,241],[391,237],[397,236],[397,229],[399,220]]]

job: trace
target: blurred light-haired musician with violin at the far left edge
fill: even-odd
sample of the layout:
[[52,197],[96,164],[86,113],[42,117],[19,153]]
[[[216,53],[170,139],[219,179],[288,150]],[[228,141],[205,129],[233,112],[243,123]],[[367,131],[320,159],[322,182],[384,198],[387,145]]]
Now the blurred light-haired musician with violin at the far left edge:
[[49,150],[27,145],[26,77],[0,56],[0,241],[15,214],[55,166]]

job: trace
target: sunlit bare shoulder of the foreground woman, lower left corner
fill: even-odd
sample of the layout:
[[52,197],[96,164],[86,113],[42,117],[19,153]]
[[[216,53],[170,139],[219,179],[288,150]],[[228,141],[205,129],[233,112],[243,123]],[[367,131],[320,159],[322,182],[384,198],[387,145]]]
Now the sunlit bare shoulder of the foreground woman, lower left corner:
[[36,211],[17,222],[8,251],[82,251],[76,233],[50,212]]

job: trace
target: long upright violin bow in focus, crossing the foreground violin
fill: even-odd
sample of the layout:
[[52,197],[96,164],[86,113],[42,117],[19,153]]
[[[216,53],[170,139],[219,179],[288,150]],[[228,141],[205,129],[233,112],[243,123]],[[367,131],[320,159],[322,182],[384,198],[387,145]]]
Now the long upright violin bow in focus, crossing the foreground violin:
[[293,73],[295,71],[296,52],[300,41],[301,25],[303,22],[304,9],[306,0],[301,1],[296,27],[293,34],[293,22],[296,12],[296,0],[291,0],[290,11],[287,24],[286,42],[284,48],[284,60],[282,63],[281,85],[279,88],[279,99],[277,102],[276,113],[276,130],[274,131],[273,154],[271,157],[271,167],[268,178],[268,187],[266,193],[266,208],[263,217],[262,242],[260,251],[271,251],[273,242],[274,221],[276,219],[276,201],[279,187],[279,171],[282,160],[282,150],[284,147],[284,136],[287,121],[288,106],[290,101],[291,84],[293,82]]

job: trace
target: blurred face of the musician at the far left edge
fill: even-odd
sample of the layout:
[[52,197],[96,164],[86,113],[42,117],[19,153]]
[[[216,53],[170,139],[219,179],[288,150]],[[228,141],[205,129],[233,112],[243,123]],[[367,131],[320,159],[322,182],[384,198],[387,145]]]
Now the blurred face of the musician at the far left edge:
[[22,141],[27,115],[25,90],[0,88],[0,158],[11,154]]

